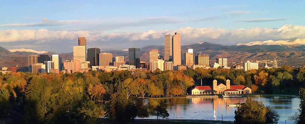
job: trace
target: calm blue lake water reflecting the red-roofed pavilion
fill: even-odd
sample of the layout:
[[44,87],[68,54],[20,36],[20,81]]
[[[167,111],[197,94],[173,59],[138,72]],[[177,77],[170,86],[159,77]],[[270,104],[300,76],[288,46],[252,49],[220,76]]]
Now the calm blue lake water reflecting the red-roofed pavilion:
[[[254,100],[263,102],[278,111],[280,120],[278,123],[292,124],[288,117],[299,109],[300,98],[287,97],[252,97]],[[160,100],[160,99],[153,99]],[[234,121],[236,107],[228,107],[228,104],[242,103],[246,97],[242,98],[167,98],[162,99],[167,104],[169,119],[205,119],[205,120],[223,120]],[[148,100],[145,99],[147,104]],[[102,107],[102,106],[101,106]],[[151,116],[147,119],[156,119]]]

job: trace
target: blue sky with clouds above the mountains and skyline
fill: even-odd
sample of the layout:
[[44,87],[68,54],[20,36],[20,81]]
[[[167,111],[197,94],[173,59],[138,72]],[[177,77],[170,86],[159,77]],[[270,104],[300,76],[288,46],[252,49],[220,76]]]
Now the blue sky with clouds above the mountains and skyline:
[[0,1],[0,46],[70,53],[77,37],[87,47],[125,50],[181,44],[236,45],[305,38],[305,1]]

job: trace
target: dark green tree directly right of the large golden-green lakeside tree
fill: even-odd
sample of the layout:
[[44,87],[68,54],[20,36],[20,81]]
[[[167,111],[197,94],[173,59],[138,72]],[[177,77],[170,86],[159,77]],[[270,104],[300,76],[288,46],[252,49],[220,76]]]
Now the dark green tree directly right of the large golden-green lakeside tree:
[[278,120],[280,118],[280,115],[276,110],[271,108],[270,106],[266,106],[267,108],[267,113],[266,113],[266,122],[265,124],[277,124]]

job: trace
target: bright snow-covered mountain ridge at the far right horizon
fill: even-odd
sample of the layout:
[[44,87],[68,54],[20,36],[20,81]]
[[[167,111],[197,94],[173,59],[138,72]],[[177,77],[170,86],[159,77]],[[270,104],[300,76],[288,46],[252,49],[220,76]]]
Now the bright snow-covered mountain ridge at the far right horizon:
[[246,46],[253,46],[253,45],[281,45],[281,46],[294,46],[294,45],[305,45],[305,38],[297,38],[294,40],[266,40],[266,41],[253,41],[249,43],[239,43],[237,46],[246,45]]

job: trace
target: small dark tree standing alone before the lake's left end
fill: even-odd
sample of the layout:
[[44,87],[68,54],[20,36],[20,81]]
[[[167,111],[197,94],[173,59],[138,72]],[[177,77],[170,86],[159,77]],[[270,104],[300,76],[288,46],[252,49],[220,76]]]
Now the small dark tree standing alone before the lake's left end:
[[159,105],[157,105],[151,113],[152,116],[157,116],[157,119],[160,120],[161,118],[166,118],[169,116],[168,112],[167,112],[167,105],[165,104],[164,101],[160,102]]

